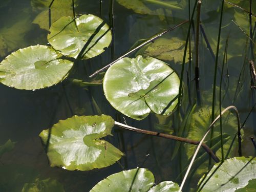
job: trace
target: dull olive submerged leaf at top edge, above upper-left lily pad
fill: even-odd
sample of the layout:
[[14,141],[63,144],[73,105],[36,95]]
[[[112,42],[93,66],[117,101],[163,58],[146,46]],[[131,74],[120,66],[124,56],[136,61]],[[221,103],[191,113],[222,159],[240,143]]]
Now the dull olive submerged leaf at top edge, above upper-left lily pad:
[[[49,30],[49,5],[52,0],[32,0],[31,5],[34,10],[42,10],[33,20],[33,24],[38,24],[41,29]],[[74,1],[76,4],[76,1]],[[55,22],[62,16],[73,16],[72,1],[55,0],[51,6],[51,22]]]

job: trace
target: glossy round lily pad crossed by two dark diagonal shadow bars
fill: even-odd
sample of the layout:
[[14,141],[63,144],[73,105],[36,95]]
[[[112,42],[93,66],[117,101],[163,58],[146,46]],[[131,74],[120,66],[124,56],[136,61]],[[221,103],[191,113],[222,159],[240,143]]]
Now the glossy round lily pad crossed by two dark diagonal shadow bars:
[[76,19],[61,17],[52,24],[47,38],[61,54],[88,59],[104,52],[104,48],[110,45],[112,35],[101,18],[85,14]]

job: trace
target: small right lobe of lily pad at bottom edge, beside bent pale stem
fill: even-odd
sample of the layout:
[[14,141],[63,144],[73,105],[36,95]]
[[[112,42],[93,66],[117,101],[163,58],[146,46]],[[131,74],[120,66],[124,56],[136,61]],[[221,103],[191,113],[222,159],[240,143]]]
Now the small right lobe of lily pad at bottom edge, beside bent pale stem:
[[173,181],[163,181],[152,187],[148,192],[170,192],[179,191],[180,187]]

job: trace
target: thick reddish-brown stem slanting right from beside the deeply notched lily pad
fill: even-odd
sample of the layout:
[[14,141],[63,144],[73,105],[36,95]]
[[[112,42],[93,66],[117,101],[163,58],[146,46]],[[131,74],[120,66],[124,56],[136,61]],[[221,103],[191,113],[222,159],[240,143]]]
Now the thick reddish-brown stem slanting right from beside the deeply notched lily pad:
[[[162,138],[165,138],[165,139],[172,139],[172,140],[185,142],[185,143],[189,143],[189,144],[193,144],[193,145],[198,145],[200,143],[200,141],[195,141],[195,140],[187,139],[187,138],[183,138],[183,137],[177,137],[177,136],[174,136],[174,135],[158,133],[158,132],[153,132],[153,131],[147,131],[147,130],[141,130],[141,129],[138,129],[138,128],[133,127],[133,126],[129,126],[129,125],[126,125],[126,124],[119,123],[117,121],[115,121],[115,125],[117,125],[119,127],[122,127],[123,129],[134,131],[134,132],[137,132],[137,133],[142,133],[142,134],[146,134],[146,135],[153,135],[153,136],[162,137]],[[214,159],[216,162],[220,162],[219,158],[214,154],[214,152],[211,151],[211,149],[205,143],[202,143],[201,145],[204,148],[204,150],[210,155],[210,157],[212,159]]]

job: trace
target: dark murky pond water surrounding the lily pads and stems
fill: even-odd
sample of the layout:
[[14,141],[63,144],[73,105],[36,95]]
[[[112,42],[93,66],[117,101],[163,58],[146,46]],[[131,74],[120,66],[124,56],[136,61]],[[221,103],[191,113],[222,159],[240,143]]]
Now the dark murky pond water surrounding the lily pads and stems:
[[[55,0],[55,2],[58,1],[60,0]],[[44,28],[45,26],[45,28],[47,28],[48,8],[38,7],[39,4],[36,3],[40,2],[44,1],[1,0],[1,60],[3,60],[9,53],[19,48],[37,44],[47,45],[48,31],[46,29],[41,29],[40,26],[36,24],[38,22],[35,22],[34,20],[36,17],[38,18],[38,14],[41,11],[47,11],[47,14],[39,18],[41,27]],[[47,1],[45,0],[45,2]],[[108,23],[109,1],[103,0],[102,2],[103,19]],[[148,9],[151,9],[154,12],[151,14],[139,14],[135,13],[132,9],[126,9],[114,1],[114,57],[117,58],[125,53],[125,51],[129,50],[137,40],[151,37],[152,35],[161,32],[163,29],[179,24],[187,19],[188,1],[181,0],[178,2],[183,7],[182,10],[172,10],[163,8],[159,5],[146,4]],[[239,3],[240,1],[237,2]],[[253,4],[253,11],[256,13],[255,2],[253,2]],[[202,26],[214,54],[216,54],[217,48],[220,5],[221,1],[203,1],[201,10]],[[239,5],[244,9],[249,10],[249,1],[244,1],[243,4],[240,3]],[[191,7],[193,7],[192,4]],[[75,9],[77,14],[90,13],[100,16],[99,1],[77,0]],[[54,11],[57,12],[57,8],[51,10],[52,14],[54,14]],[[234,22],[232,22],[232,20],[234,20]],[[219,88],[225,41],[228,37],[228,72],[225,67],[223,76],[224,83],[222,86],[222,97],[224,96],[222,107],[225,108],[229,105],[237,106],[242,123],[250,112],[253,102],[255,102],[255,99],[252,99],[253,93],[250,89],[250,68],[248,58],[251,58],[251,55],[249,55],[249,39],[246,35],[249,34],[248,20],[248,13],[225,3],[217,86]],[[253,17],[253,22],[255,22],[255,17]],[[243,31],[237,25],[239,25]],[[167,33],[163,38],[176,37],[185,41],[187,27],[187,25],[184,25]],[[195,36],[192,36],[191,46],[193,47],[193,58],[195,58],[194,39]],[[209,47],[207,47],[202,31],[200,32],[199,44],[200,88],[202,93],[201,114],[205,115],[204,119],[207,119],[208,117],[209,120],[209,115],[207,116],[207,113],[210,113],[209,109],[211,108],[215,60],[209,51]],[[135,54],[132,54],[130,57],[133,57],[134,55]],[[92,72],[106,65],[110,61],[110,49],[106,49],[101,56],[89,60],[75,61],[75,67],[68,78],[77,78],[87,81]],[[180,76],[181,64],[178,62],[174,63],[174,61],[166,62],[169,63]],[[189,75],[191,77],[190,83],[192,85],[191,100],[194,101],[196,98],[195,81],[193,80],[193,66],[195,65],[195,59],[192,59],[191,63],[192,68],[190,69],[189,64],[187,63],[185,72],[187,71],[190,73],[191,71],[191,75]],[[227,76],[227,73],[229,76]],[[238,83],[239,77],[240,83]],[[187,90],[186,75],[183,81],[184,90]],[[217,95],[219,95],[218,88]],[[175,119],[175,116],[172,114],[167,117],[150,114],[150,116],[141,121],[124,117],[118,111],[114,110],[105,99],[101,86],[81,88],[69,83],[68,79],[53,87],[37,91],[17,90],[0,83],[0,93],[0,145],[4,144],[8,139],[16,142],[13,150],[0,157],[0,191],[21,191],[25,183],[31,183],[36,178],[55,179],[63,185],[65,191],[89,191],[103,178],[113,173],[120,172],[123,169],[136,167],[146,167],[150,169],[154,173],[157,183],[164,180],[176,181],[178,183],[181,182],[179,176],[180,167],[185,168],[188,161],[188,157],[186,156],[187,148],[186,146],[182,146],[181,152],[179,152],[180,155],[173,158],[173,151],[176,143],[167,139],[121,131],[116,127],[113,131],[114,136],[108,137],[106,140],[110,141],[125,153],[125,156],[119,161],[120,163],[115,163],[112,166],[94,169],[88,172],[72,172],[49,166],[44,148],[38,137],[38,134],[43,129],[48,129],[60,119],[66,119],[75,114],[99,115],[99,113],[111,115],[115,120],[120,122],[123,122],[123,118],[125,118],[127,124],[140,127],[141,129],[173,133],[173,122],[178,122],[178,120]],[[218,105],[219,96],[217,96],[216,102]],[[97,103],[100,111],[97,110],[95,103]],[[181,105],[181,117],[184,118],[188,106],[188,95],[185,91]],[[196,118],[198,115],[199,113],[195,112],[194,117]],[[244,127],[244,137],[242,142],[244,156],[255,155],[253,145],[250,141],[250,137],[253,136],[253,120],[256,120],[256,116],[253,115],[254,114],[252,113],[249,116]],[[227,125],[227,127],[230,126],[232,125]],[[187,132],[184,133],[184,136],[186,136],[186,134]],[[232,137],[233,135],[231,138]],[[195,139],[200,140],[200,138],[201,136]],[[188,147],[188,151],[189,150],[194,149]],[[235,148],[232,156],[236,155],[237,150]],[[203,173],[206,170],[207,169],[201,168],[199,172]],[[184,190],[188,191],[189,187],[195,187],[200,177],[200,175],[196,174],[194,177],[191,177],[192,179],[188,181],[189,185],[186,186],[186,189]]]

